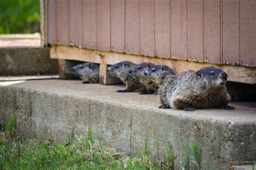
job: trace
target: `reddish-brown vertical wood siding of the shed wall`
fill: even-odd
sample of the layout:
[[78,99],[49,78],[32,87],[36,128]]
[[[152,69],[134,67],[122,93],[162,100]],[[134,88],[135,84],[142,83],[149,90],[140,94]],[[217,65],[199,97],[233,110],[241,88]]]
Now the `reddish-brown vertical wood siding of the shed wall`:
[[256,65],[255,0],[48,0],[47,9],[52,45]]

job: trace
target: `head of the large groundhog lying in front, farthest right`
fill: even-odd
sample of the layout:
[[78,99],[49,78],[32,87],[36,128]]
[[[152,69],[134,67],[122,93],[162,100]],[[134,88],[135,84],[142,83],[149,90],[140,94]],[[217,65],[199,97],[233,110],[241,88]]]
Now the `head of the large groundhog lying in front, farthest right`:
[[215,67],[205,67],[196,72],[198,79],[204,79],[208,85],[219,87],[227,82],[227,73]]

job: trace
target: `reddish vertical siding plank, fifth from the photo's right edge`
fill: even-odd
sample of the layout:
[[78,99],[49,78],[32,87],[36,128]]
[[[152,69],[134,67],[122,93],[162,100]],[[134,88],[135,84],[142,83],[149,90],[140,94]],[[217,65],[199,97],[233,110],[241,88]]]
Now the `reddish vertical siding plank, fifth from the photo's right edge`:
[[171,0],[171,55],[187,59],[187,1]]

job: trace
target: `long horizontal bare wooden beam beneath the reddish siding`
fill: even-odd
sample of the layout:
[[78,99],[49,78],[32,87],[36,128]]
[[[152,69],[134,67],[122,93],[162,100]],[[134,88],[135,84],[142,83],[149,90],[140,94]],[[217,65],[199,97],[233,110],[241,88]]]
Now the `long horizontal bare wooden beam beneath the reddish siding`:
[[163,64],[170,66],[178,73],[188,69],[198,70],[203,67],[213,66],[224,70],[224,72],[228,74],[228,81],[256,84],[256,67],[216,65],[203,62],[159,59],[147,56],[104,52],[91,49],[82,49],[77,47],[66,47],[58,45],[51,46],[50,56],[52,59],[78,60],[86,62],[95,62],[104,65],[113,65],[114,63],[118,63],[123,60],[132,61],[135,63],[152,62],[156,65]]

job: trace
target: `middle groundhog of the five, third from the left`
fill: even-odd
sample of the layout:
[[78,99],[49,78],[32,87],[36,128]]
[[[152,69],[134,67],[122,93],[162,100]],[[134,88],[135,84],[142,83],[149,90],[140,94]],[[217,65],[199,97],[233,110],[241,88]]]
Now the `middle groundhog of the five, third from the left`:
[[157,90],[158,90],[158,86],[156,83],[154,83],[152,80],[150,80],[149,78],[147,78],[144,75],[144,71],[146,69],[149,69],[151,67],[153,67],[155,65],[153,65],[150,62],[144,62],[141,63],[139,65],[133,66],[132,68],[130,68],[130,73],[132,74],[132,76],[134,78],[139,77],[140,82],[142,82],[145,86],[146,86],[146,91],[140,91],[139,94],[156,94]]

